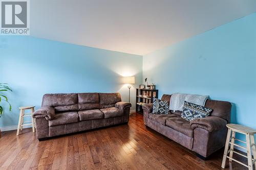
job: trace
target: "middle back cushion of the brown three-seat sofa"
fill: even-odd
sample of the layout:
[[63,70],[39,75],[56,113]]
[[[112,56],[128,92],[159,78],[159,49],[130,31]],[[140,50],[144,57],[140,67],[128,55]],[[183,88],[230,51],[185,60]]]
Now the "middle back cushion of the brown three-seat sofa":
[[99,108],[99,93],[78,93],[78,110]]

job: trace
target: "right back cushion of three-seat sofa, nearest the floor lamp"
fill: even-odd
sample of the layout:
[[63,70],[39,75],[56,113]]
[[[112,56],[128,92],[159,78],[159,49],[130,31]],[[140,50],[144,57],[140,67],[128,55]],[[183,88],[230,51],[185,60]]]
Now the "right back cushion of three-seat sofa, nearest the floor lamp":
[[117,102],[121,102],[120,93],[99,93],[100,108],[114,107]]

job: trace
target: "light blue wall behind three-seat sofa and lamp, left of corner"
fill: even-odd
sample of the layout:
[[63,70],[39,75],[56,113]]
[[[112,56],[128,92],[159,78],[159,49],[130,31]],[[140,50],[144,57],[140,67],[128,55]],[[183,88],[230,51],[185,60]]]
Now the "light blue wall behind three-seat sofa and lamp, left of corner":
[[0,127],[17,125],[17,108],[39,108],[45,93],[120,92],[128,101],[122,76],[136,76],[135,109],[135,88],[142,80],[142,56],[26,36],[0,36],[0,63],[0,82],[13,89],[8,93],[13,109],[5,109]]

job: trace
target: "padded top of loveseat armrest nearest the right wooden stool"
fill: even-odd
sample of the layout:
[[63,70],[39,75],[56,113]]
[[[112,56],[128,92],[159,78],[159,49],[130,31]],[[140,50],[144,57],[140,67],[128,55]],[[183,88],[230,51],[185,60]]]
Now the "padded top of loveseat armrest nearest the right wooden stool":
[[227,120],[215,117],[215,116],[208,116],[204,118],[198,118],[195,120],[192,120],[190,122],[191,129],[201,128],[205,129],[208,132],[218,131],[225,128],[227,125]]

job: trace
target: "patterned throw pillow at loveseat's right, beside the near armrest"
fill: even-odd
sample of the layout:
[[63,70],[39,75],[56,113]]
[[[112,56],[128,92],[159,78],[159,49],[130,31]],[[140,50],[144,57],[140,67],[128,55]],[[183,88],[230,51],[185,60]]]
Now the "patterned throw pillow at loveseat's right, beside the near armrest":
[[196,105],[193,103],[188,103],[185,101],[183,105],[183,111],[181,113],[181,117],[188,121],[192,121],[197,118],[206,117],[210,115],[211,112],[212,112],[212,109],[210,108]]

